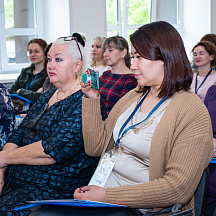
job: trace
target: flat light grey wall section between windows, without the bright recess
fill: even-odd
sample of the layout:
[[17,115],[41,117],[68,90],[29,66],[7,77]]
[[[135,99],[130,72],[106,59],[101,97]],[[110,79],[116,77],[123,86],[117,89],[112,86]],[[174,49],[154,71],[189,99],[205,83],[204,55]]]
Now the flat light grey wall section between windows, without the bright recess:
[[[87,41],[85,55],[90,57],[90,45],[94,37],[106,36],[106,0],[69,0],[70,31],[84,33]],[[87,62],[84,68],[87,68]]]

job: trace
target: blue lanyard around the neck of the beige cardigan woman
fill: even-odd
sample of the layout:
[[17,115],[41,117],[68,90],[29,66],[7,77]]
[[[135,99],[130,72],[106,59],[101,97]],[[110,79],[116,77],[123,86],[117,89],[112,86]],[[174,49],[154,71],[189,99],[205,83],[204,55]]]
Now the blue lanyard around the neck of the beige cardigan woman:
[[[128,122],[131,120],[131,118],[134,116],[134,114],[136,113],[136,111],[139,109],[139,107],[141,106],[141,104],[143,103],[143,101],[145,100],[145,98],[147,97],[148,93],[149,93],[150,90],[148,90],[148,92],[146,92],[146,94],[144,95],[144,97],[142,98],[142,100],[137,104],[136,108],[134,109],[134,111],[130,114],[130,116],[128,117],[128,119],[125,121],[125,123],[121,126],[121,129],[119,131],[119,135],[118,135],[118,139],[117,141],[115,142],[115,146],[118,146],[120,141],[121,141],[121,138],[129,131],[131,130],[132,128],[136,127],[137,125],[143,123],[144,121],[146,121],[151,115],[152,113],[157,110],[157,108],[168,98],[168,97],[163,97],[159,102],[158,104],[156,104],[156,106],[151,110],[151,112],[148,114],[148,116],[142,120],[141,122],[137,123],[137,124],[134,124],[134,125],[131,125],[130,127],[126,128],[124,130],[124,128],[126,127],[126,125],[128,124]],[[123,131],[124,130],[124,131]],[[123,132],[122,132],[123,131]]]

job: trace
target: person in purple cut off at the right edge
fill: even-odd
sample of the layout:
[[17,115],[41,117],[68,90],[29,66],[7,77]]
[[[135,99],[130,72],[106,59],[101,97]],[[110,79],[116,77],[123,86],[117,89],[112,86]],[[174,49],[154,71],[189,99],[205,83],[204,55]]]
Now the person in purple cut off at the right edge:
[[[213,129],[213,144],[214,144],[214,155],[216,157],[216,85],[211,86],[206,94],[204,104],[206,105],[212,121]],[[209,182],[206,200],[206,216],[214,215],[216,212],[216,164],[209,164]]]

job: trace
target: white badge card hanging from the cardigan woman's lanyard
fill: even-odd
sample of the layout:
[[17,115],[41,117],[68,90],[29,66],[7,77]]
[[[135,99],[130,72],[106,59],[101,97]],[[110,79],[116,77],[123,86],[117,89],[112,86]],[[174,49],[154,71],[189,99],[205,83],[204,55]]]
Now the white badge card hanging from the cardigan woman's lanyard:
[[113,167],[117,161],[117,154],[115,151],[111,150],[104,153],[102,159],[100,160],[89,185],[96,185],[104,187]]

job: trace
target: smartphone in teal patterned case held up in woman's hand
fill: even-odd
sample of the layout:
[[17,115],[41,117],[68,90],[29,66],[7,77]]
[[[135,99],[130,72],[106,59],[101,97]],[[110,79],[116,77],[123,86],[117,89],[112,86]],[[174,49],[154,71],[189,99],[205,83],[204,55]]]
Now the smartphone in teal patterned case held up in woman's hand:
[[94,71],[90,68],[86,70],[85,73],[82,75],[82,80],[84,84],[86,84],[88,81],[91,82],[91,87],[97,91],[99,91],[99,73],[97,71]]

